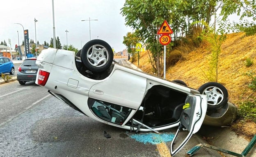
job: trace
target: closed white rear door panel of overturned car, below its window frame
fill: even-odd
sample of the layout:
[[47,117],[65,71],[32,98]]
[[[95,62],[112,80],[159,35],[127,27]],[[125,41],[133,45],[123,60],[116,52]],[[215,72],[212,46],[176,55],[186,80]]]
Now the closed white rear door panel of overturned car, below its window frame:
[[106,80],[91,87],[89,97],[137,110],[146,91],[146,78],[116,69]]

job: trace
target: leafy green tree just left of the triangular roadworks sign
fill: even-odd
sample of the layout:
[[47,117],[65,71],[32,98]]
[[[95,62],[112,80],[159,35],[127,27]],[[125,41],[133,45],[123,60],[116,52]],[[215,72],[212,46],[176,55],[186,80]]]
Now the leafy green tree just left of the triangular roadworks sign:
[[166,0],[126,0],[121,13],[125,16],[126,25],[137,30],[137,35],[147,46],[152,55],[151,65],[158,76],[162,69],[162,50],[157,35],[164,20],[171,19],[170,10],[174,1]]

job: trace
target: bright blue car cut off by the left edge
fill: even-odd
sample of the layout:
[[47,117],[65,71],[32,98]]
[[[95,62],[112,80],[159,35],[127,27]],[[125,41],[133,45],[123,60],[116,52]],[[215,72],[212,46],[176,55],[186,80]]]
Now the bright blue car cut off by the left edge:
[[11,75],[14,74],[14,64],[7,57],[0,57],[0,74],[1,73],[10,73]]

